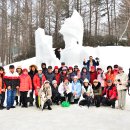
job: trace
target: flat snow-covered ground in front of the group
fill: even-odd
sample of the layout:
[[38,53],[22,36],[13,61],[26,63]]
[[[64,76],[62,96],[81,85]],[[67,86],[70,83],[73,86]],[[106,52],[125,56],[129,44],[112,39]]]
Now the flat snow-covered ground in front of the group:
[[17,107],[0,111],[0,130],[129,130],[130,97],[126,110],[109,107],[68,108],[52,106],[53,110],[42,111],[35,107]]

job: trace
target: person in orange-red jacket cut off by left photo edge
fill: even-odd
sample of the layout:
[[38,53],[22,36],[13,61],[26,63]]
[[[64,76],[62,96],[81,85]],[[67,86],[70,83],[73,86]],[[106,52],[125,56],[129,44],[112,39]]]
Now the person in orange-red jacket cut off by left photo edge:
[[4,68],[0,66],[0,110],[4,109],[4,100],[5,100],[5,91],[6,91],[6,86],[4,83]]

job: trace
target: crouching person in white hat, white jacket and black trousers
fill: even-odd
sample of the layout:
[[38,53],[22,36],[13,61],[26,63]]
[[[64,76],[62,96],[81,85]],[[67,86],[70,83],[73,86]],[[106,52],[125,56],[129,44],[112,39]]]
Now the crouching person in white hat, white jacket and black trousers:
[[87,105],[88,107],[90,104],[93,102],[93,89],[92,86],[89,84],[88,79],[85,79],[83,81],[83,87],[82,87],[82,95],[83,95],[83,100],[79,102],[80,106],[85,106]]

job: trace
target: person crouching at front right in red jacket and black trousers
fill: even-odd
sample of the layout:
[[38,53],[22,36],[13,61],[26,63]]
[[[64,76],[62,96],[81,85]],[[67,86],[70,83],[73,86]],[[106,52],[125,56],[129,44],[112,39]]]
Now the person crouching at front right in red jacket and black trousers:
[[107,86],[105,87],[102,95],[102,105],[112,106],[112,108],[115,108],[115,102],[117,100],[117,89],[116,86],[112,83],[112,80],[107,80]]

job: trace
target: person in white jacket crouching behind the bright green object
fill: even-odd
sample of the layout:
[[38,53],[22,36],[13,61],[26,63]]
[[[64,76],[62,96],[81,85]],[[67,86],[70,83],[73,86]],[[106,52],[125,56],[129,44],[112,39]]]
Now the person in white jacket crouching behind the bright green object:
[[61,102],[68,101],[71,102],[71,83],[69,83],[69,80],[66,78],[64,79],[64,82],[62,82],[58,88],[59,93],[61,94]]

